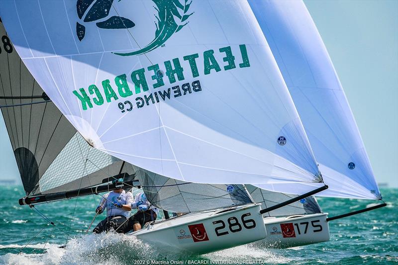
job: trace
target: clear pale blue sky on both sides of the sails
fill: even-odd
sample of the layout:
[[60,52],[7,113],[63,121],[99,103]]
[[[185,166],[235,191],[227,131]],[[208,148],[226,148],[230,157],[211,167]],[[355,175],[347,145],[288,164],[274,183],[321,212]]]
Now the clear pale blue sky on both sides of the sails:
[[[345,90],[377,181],[398,187],[398,1],[305,0]],[[0,179],[18,179],[0,117]]]

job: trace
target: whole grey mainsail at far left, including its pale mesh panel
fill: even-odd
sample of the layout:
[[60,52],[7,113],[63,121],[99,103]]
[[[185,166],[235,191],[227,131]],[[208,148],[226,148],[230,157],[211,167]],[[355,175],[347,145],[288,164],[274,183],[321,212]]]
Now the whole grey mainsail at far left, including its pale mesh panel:
[[[1,22],[0,38],[0,107],[26,195],[90,187],[117,175],[121,161],[76,132],[26,69]],[[131,166],[124,172],[132,174]]]

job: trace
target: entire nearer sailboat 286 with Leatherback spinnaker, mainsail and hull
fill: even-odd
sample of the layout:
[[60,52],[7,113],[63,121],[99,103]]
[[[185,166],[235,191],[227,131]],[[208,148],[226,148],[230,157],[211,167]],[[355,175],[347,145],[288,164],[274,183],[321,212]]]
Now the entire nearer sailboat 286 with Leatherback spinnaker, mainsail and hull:
[[[249,195],[230,195],[243,192],[240,183],[316,183],[296,200],[327,188],[247,2],[0,7],[7,29],[1,76],[9,77],[1,109],[26,191],[20,204],[112,190],[121,176],[125,187],[157,186],[137,184],[137,169],[211,185],[225,190],[207,194],[223,198],[218,209],[190,210],[132,233],[202,254],[265,237],[267,209]],[[183,194],[183,183],[175,186]],[[193,194],[191,201],[202,202]]]

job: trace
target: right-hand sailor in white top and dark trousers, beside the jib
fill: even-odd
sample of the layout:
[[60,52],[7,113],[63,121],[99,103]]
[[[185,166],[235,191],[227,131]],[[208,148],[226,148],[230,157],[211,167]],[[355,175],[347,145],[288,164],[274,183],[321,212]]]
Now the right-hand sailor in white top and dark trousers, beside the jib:
[[159,213],[159,209],[152,206],[144,192],[135,195],[134,202],[131,203],[131,208],[138,209],[138,211],[129,218],[126,231],[140,230],[146,222],[155,221]]

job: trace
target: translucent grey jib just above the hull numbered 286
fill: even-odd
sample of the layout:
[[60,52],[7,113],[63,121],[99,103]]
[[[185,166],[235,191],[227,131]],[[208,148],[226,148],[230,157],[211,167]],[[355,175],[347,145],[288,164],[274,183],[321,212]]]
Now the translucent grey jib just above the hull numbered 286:
[[132,166],[148,200],[173,212],[199,212],[251,203],[243,185],[190,183]]

